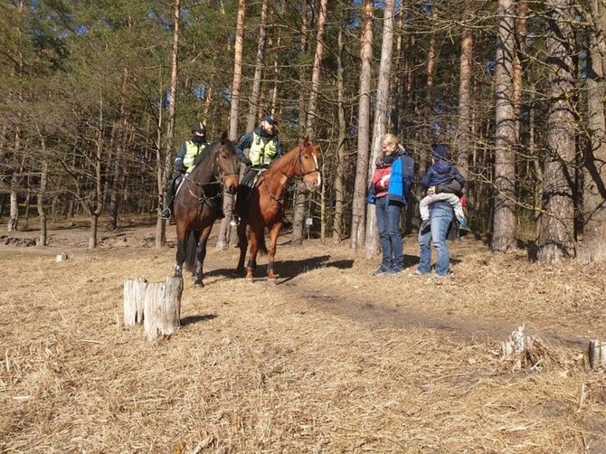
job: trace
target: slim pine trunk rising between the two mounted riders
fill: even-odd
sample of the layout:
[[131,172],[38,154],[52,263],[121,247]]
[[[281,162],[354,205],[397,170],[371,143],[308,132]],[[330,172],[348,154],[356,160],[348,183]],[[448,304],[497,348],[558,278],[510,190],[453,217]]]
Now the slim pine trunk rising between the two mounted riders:
[[[240,91],[242,84],[242,52],[244,49],[244,19],[246,17],[246,1],[238,0],[238,20],[236,23],[236,40],[233,46],[233,80],[232,80],[232,107],[230,109],[230,140],[238,140],[238,120],[240,118]],[[221,229],[217,238],[217,251],[223,251],[230,245],[232,237],[233,196],[223,194],[223,213],[225,217],[221,222]]]

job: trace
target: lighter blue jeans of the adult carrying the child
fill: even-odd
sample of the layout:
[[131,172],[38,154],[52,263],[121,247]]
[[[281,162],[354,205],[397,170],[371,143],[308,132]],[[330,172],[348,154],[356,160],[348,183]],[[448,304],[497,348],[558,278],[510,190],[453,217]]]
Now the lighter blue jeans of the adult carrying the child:
[[446,236],[452,221],[452,208],[450,204],[437,202],[430,205],[431,230],[423,234],[419,233],[419,247],[421,257],[417,270],[426,274],[431,270],[431,242],[438,251],[436,261],[436,276],[448,276],[450,265],[449,247],[446,244]]

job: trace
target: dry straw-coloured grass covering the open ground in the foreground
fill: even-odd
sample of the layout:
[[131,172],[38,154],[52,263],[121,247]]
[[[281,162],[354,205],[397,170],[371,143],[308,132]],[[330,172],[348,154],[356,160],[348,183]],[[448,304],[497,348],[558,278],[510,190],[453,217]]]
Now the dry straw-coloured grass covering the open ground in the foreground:
[[[181,331],[148,343],[121,326],[122,283],[165,279],[174,250],[139,236],[61,263],[56,247],[2,251],[0,451],[606,451],[606,383],[579,356],[606,338],[603,266],[469,241],[452,279],[376,279],[374,262],[308,242],[279,249],[292,279],[272,287],[211,250]],[[500,357],[522,322],[552,359],[539,372]]]

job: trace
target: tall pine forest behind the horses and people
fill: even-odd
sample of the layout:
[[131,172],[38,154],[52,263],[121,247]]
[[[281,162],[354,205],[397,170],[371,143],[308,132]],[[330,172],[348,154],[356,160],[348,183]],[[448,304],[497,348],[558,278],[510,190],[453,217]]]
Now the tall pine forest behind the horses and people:
[[164,185],[194,120],[235,140],[273,113],[286,150],[307,135],[323,154],[322,190],[290,190],[293,242],[377,251],[365,190],[393,132],[416,197],[431,144],[450,147],[493,251],[606,257],[601,0],[1,0],[0,24],[9,231],[35,214],[44,244],[48,221],[86,215],[94,247],[100,218],[143,215],[161,246]]

